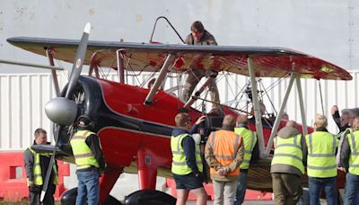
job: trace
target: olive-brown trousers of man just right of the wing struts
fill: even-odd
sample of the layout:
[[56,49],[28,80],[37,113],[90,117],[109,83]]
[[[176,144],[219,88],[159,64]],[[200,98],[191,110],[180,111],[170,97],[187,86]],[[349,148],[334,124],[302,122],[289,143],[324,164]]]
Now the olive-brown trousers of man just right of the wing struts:
[[302,196],[302,178],[296,174],[273,173],[276,205],[295,205]]

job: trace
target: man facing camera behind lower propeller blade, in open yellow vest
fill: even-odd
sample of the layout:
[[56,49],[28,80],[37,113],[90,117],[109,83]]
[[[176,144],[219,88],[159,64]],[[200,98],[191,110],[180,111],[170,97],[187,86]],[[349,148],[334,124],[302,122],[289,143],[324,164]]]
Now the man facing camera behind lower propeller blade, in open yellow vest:
[[[49,143],[46,130],[40,128],[36,129],[33,145],[47,144]],[[35,152],[35,150],[33,150],[31,147],[29,147],[23,153],[23,160],[25,164],[27,184],[29,187],[29,201],[31,205],[38,205],[40,204],[42,184],[48,171],[50,156],[40,155],[39,153]],[[44,200],[42,201],[43,204],[54,204],[54,193],[57,184],[57,163],[55,163],[50,175],[48,190],[45,194]]]

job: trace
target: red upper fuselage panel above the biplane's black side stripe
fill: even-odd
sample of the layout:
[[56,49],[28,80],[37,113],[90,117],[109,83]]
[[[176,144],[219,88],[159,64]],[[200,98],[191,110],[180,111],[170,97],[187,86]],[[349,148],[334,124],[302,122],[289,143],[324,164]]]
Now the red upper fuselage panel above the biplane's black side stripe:
[[[99,82],[103,99],[110,110],[141,120],[175,126],[174,117],[183,107],[183,103],[177,97],[159,92],[154,96],[152,104],[144,105],[149,89],[105,80],[99,80]],[[189,114],[192,120],[200,116],[199,111],[193,109],[189,110]]]

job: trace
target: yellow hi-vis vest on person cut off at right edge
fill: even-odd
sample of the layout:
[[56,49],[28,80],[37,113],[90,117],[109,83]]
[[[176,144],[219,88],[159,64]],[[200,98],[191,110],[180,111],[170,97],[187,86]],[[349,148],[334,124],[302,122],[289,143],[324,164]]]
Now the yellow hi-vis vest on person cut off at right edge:
[[349,173],[359,175],[359,130],[346,135],[350,146]]

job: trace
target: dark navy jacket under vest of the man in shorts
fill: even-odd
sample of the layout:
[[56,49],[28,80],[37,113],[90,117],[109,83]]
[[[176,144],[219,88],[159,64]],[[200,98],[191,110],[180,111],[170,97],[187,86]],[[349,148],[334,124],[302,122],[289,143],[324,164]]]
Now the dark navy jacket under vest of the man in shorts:
[[172,137],[177,138],[179,135],[188,134],[187,137],[183,138],[181,146],[183,147],[185,156],[186,156],[186,163],[188,167],[192,170],[194,174],[197,174],[198,167],[196,162],[196,145],[195,140],[190,136],[188,130],[175,128],[172,130]]

